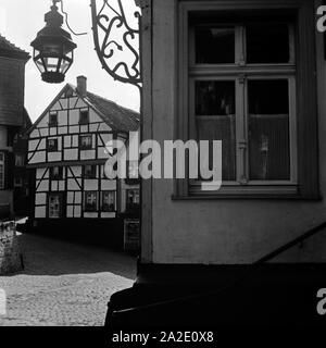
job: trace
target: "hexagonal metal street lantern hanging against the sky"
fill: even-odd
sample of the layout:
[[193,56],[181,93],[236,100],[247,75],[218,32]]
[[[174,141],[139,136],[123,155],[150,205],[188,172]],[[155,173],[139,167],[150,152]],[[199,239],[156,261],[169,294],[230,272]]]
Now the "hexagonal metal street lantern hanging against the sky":
[[72,41],[70,33],[61,26],[63,16],[58,12],[53,0],[51,11],[45,16],[47,25],[37,34],[30,44],[34,48],[34,62],[41,73],[42,80],[50,84],[60,84],[73,64],[74,49],[77,47]]

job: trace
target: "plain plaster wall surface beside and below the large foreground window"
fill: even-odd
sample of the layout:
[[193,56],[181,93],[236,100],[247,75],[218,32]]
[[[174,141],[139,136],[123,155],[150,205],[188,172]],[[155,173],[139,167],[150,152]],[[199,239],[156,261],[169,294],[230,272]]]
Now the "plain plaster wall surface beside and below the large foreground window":
[[[153,0],[153,138],[174,137],[176,115],[175,0]],[[170,42],[170,45],[167,45]],[[326,71],[323,35],[317,35],[319,107],[319,178],[326,194]],[[147,64],[148,63],[148,64]],[[145,62],[150,67],[149,62]],[[148,90],[145,90],[145,95]],[[149,117],[146,114],[145,117]],[[251,263],[306,229],[326,221],[322,201],[213,200],[173,201],[172,181],[153,181],[152,254],[155,263]],[[177,212],[177,213],[176,213]],[[309,260],[325,261],[326,239],[309,253]],[[148,246],[146,246],[149,248]],[[296,252],[287,261],[303,260]]]

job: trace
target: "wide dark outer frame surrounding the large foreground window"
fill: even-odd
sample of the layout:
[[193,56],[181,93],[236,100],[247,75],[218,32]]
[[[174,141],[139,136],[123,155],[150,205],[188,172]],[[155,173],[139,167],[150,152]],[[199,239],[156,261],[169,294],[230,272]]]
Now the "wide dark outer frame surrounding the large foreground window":
[[[297,109],[292,110],[292,113],[297,111],[296,125],[291,125],[294,128],[293,134],[298,139],[303,141],[297,141],[292,139],[290,144],[296,144],[293,149],[291,145],[291,151],[294,154],[292,158],[297,158],[298,162],[291,162],[291,172],[294,171],[294,177],[292,177],[292,185],[286,186],[285,183],[278,183],[283,185],[251,185],[250,187],[227,187],[223,186],[221,190],[208,192],[192,190],[189,185],[188,178],[176,179],[174,185],[174,199],[193,199],[193,198],[279,198],[279,199],[319,199],[318,190],[318,158],[317,158],[317,109],[316,109],[316,80],[313,78],[312,71],[315,70],[315,55],[314,55],[314,21],[311,18],[311,4],[309,2],[298,1],[284,1],[283,3],[276,0],[259,1],[259,0],[244,0],[244,1],[231,1],[226,3],[225,1],[180,1],[179,2],[179,36],[178,36],[178,116],[176,117],[176,139],[187,141],[191,138],[190,129],[191,124],[189,116],[191,113],[189,100],[193,100],[193,90],[191,95],[191,78],[190,72],[193,65],[195,54],[191,54],[190,50],[190,14],[196,12],[211,12],[211,11],[230,11],[239,13],[241,10],[279,10],[286,9],[296,18],[296,63],[297,63],[297,86],[292,86],[292,94],[297,96]],[[276,16],[277,18],[277,16]],[[276,21],[277,22],[277,21]],[[240,35],[240,34],[238,34]],[[243,34],[241,34],[243,35]],[[237,40],[237,37],[236,37]],[[236,50],[237,51],[237,50]],[[290,57],[293,57],[294,48],[290,42]],[[236,54],[238,54],[236,52]],[[188,64],[185,64],[188,62]],[[231,71],[234,64],[221,64],[224,72],[227,70],[228,74]],[[252,69],[259,65],[271,64],[248,64]],[[274,64],[273,64],[274,65]],[[279,65],[280,72],[284,75],[285,70],[289,67],[289,64],[275,64]],[[284,65],[288,65],[285,66]],[[202,64],[202,69],[205,70],[205,74],[211,79],[212,71],[210,71],[209,64]],[[192,71],[196,75],[196,72]],[[211,75],[210,75],[211,74]],[[225,73],[224,73],[225,75]],[[272,76],[271,76],[272,77]],[[273,76],[274,77],[274,76]],[[222,77],[221,79],[223,79]],[[269,79],[269,78],[266,78]],[[237,101],[236,101],[237,102]],[[293,108],[294,103],[289,102],[289,107]],[[309,132],[308,132],[309,129]],[[308,149],[315,149],[313,156],[312,151]],[[299,156],[300,154],[300,156]],[[306,165],[310,165],[310,172],[306,170]],[[297,183],[296,183],[297,179]],[[261,184],[261,183],[256,183]],[[276,183],[274,183],[276,184]]]

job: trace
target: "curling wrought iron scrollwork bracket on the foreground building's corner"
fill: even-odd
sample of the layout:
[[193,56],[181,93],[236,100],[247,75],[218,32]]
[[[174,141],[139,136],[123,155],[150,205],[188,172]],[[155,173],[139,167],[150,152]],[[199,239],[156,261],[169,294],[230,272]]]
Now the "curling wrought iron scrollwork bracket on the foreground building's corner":
[[[139,11],[134,13],[138,26],[137,28],[131,28],[128,24],[122,0],[114,0],[116,8],[109,3],[112,0],[99,1],[103,1],[103,4],[98,11],[97,0],[91,0],[91,13],[95,48],[102,67],[115,80],[131,84],[141,89],[142,80],[139,57],[141,13]],[[122,42],[117,42],[113,37],[113,29],[123,30]],[[124,52],[126,50],[131,58],[131,63],[120,60],[117,62],[113,61],[117,51]]]

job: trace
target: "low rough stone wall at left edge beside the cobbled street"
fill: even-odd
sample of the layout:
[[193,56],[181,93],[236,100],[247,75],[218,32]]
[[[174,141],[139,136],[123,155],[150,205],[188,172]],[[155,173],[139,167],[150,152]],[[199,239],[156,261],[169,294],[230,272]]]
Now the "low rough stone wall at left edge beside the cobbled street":
[[0,222],[0,274],[22,270],[21,250],[13,222]]

